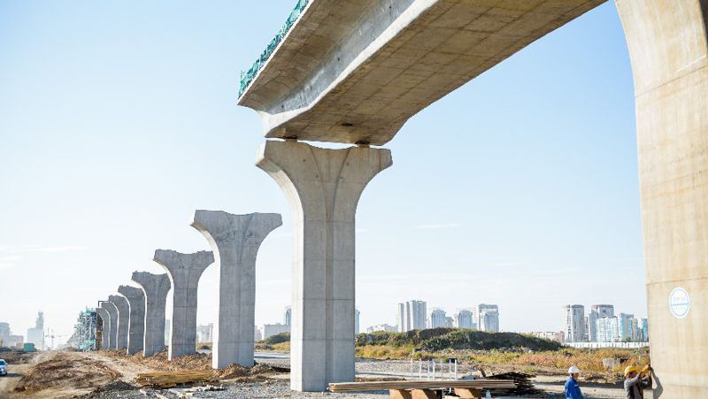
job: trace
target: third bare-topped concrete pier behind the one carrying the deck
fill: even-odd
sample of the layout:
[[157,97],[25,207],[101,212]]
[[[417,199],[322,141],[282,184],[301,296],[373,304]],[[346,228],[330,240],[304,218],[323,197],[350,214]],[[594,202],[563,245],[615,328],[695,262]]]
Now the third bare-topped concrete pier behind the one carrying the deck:
[[165,274],[133,272],[133,281],[145,295],[145,338],[142,356],[149,357],[165,349],[165,307],[172,285]]

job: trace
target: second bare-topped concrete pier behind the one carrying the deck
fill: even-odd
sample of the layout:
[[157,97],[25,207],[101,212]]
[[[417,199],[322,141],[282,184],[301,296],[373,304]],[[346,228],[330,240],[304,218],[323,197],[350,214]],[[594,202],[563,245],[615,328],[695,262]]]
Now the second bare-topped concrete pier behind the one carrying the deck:
[[165,268],[172,283],[173,311],[169,359],[196,353],[196,289],[207,266],[214,263],[211,251],[182,254],[158,249],[153,259]]

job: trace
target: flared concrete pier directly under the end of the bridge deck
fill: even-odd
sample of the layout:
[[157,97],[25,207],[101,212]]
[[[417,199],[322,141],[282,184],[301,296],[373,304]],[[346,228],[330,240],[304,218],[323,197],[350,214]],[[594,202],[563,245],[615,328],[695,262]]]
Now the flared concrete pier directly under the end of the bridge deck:
[[272,141],[257,165],[293,211],[290,387],[323,391],[330,382],[353,381],[354,218],[366,184],[392,165],[391,152]]

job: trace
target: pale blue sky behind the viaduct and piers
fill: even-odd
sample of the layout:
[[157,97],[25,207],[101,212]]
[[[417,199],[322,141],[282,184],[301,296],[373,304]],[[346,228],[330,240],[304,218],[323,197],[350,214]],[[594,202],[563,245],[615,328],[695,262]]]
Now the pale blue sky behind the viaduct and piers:
[[[208,249],[195,209],[281,212],[258,258],[258,325],[289,304],[291,213],[253,165],[240,71],[293,2],[0,0],[0,320],[71,334],[84,306]],[[558,330],[566,303],[646,314],[631,68],[612,2],[411,119],[358,208],[362,328],[396,303],[498,303]],[[432,135],[435,140],[430,140]],[[204,273],[199,322],[215,318]]]

